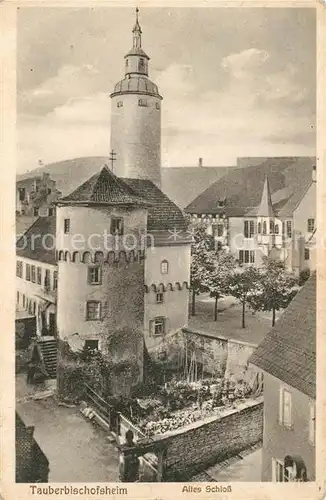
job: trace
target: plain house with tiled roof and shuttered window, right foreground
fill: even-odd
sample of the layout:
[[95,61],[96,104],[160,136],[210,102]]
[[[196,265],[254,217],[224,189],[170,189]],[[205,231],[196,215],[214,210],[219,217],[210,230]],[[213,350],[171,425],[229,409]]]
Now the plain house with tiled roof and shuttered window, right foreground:
[[316,273],[249,362],[264,373],[262,480],[314,481]]

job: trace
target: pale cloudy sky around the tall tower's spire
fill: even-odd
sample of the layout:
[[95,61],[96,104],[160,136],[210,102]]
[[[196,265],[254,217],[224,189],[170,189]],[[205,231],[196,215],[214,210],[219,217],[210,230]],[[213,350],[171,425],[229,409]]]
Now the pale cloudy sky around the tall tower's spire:
[[[19,9],[18,173],[109,154],[134,19],[129,7]],[[315,9],[141,8],[140,24],[163,166],[316,154]]]

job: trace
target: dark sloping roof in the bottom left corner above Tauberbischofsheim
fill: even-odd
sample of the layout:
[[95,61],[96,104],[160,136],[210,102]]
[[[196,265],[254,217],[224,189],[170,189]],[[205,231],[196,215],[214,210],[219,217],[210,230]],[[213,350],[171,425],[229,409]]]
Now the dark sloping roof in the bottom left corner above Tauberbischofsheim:
[[34,427],[27,427],[16,412],[16,483],[47,483],[49,461],[34,439]]

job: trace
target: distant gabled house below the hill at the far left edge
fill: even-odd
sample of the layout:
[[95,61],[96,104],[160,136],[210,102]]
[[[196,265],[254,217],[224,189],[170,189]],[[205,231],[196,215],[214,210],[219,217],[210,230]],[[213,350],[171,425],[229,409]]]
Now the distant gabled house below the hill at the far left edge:
[[18,216],[46,217],[53,215],[54,202],[61,192],[50,174],[28,177],[16,182],[16,214]]

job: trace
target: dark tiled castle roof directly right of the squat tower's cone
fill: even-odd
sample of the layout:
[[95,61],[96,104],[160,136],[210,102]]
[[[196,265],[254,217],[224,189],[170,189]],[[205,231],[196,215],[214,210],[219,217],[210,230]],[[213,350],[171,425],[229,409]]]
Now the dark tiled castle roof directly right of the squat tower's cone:
[[162,191],[146,179],[124,179],[139,196],[151,202],[148,207],[147,230],[186,230],[187,224],[180,210]]

